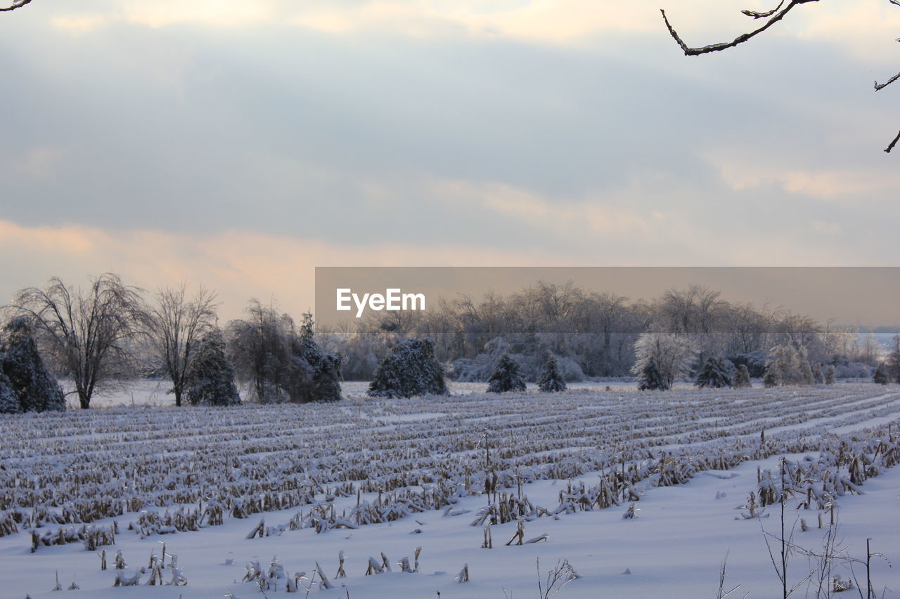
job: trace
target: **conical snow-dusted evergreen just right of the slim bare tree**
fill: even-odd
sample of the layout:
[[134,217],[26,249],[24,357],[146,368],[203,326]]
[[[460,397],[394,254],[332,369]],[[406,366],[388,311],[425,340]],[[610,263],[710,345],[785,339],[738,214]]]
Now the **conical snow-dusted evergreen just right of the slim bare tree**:
[[221,331],[212,329],[200,339],[185,374],[185,397],[193,406],[235,406],[240,403],[234,369],[225,357]]

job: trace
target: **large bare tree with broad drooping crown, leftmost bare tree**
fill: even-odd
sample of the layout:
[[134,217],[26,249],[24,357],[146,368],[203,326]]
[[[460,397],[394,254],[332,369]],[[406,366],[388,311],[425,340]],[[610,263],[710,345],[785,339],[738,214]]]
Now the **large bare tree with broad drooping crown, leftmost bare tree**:
[[94,391],[119,378],[130,362],[128,344],[146,323],[142,291],[113,273],[100,275],[86,290],[54,277],[46,289],[19,291],[11,308],[34,318],[51,361],[72,377],[78,402],[87,408]]

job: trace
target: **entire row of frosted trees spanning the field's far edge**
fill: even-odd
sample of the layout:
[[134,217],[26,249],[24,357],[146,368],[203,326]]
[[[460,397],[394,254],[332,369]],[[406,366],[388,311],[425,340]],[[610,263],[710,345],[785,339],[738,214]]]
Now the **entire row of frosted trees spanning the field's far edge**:
[[491,390],[524,380],[561,390],[586,376],[635,376],[642,389],[691,376],[701,387],[744,386],[750,377],[769,386],[827,383],[873,370],[878,382],[900,380],[900,337],[882,364],[873,335],[728,302],[698,285],[631,300],[537,282],[509,296],[383,313],[353,330],[317,331],[311,314],[298,323],[258,299],[220,326],[218,307],[203,287],[185,282],[148,299],[114,273],[85,288],[54,278],[23,289],[0,331],[0,412],[63,409],[57,377],[71,381],[82,408],[140,375],[168,380],[176,406],[239,403],[236,380],[263,403],[335,401],[343,378],[373,380],[374,396],[446,393],[447,374],[488,380]]

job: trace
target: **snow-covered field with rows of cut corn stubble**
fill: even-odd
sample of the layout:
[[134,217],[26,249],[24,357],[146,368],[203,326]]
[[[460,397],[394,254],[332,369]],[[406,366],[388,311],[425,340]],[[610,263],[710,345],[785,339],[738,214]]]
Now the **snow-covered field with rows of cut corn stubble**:
[[[864,560],[868,537],[900,559],[895,386],[601,383],[498,397],[466,384],[449,398],[383,400],[350,383],[338,405],[215,409],[169,407],[149,385],[110,401],[126,406],[0,416],[0,595],[58,597],[58,574],[73,597],[298,596],[286,587],[305,572],[299,591],[322,597],[526,598],[540,596],[539,558],[544,578],[563,559],[580,575],[561,599],[713,597],[727,555],[726,590],[741,586],[730,596],[778,597],[764,532],[780,535],[781,456],[797,545],[790,586],[819,562],[800,548],[822,550],[832,504],[842,556]],[[754,509],[761,517],[744,517],[751,492],[773,502]],[[636,517],[623,518],[633,502]],[[545,540],[507,546],[517,521],[523,541]],[[176,555],[186,586],[147,585],[162,543],[163,581]],[[415,569],[419,547],[419,571],[401,571],[403,558]],[[341,552],[346,577],[336,577]],[[383,556],[392,571],[365,576]],[[276,567],[270,581],[274,558],[284,577]],[[254,562],[266,590],[242,582]],[[320,588],[317,563],[332,588]],[[457,583],[465,564],[470,579]],[[833,568],[852,576],[846,560]],[[864,567],[853,572],[864,585]],[[139,586],[114,588],[117,576]],[[819,576],[795,596],[816,596]],[[67,591],[73,580],[80,590]],[[900,593],[883,559],[872,581],[878,596]]]

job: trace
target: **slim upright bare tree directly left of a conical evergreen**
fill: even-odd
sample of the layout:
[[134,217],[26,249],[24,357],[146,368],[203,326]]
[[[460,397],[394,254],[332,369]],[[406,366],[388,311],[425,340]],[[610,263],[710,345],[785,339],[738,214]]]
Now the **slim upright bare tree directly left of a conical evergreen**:
[[214,326],[218,307],[214,291],[200,287],[189,299],[187,287],[183,282],[159,290],[157,306],[148,310],[150,343],[172,380],[170,392],[175,394],[175,406],[181,406],[194,350],[202,335]]

